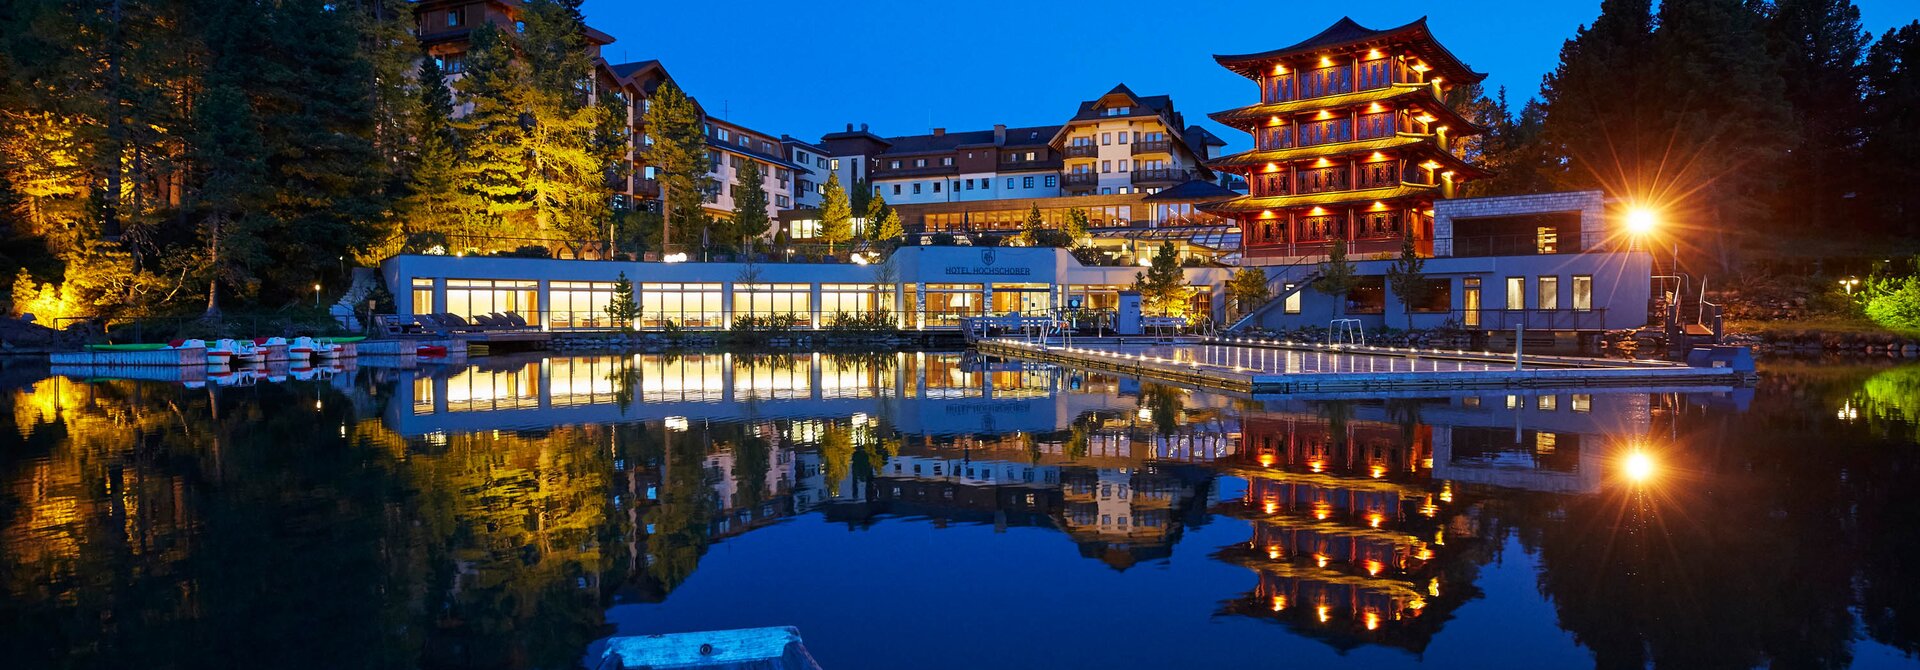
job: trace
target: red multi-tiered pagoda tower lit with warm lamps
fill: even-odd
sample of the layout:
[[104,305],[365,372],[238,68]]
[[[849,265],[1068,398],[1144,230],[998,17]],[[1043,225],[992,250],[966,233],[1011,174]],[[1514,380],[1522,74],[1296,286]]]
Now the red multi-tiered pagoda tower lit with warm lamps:
[[1448,150],[1482,132],[1446,104],[1467,69],[1427,19],[1375,31],[1340,19],[1306,42],[1215,61],[1260,84],[1260,104],[1212,117],[1254,134],[1254,150],[1210,163],[1246,177],[1248,196],[1204,209],[1240,221],[1242,263],[1398,251],[1413,234],[1430,253],[1432,202],[1486,177]]

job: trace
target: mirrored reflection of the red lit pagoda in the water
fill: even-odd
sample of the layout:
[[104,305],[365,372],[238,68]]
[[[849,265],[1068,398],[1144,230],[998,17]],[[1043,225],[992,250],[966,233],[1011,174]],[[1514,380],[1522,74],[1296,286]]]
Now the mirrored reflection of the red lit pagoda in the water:
[[1240,501],[1215,509],[1252,522],[1244,545],[1219,559],[1254,570],[1254,591],[1223,612],[1283,622],[1338,649],[1367,643],[1421,651],[1448,612],[1473,595],[1450,574],[1475,538],[1453,514],[1452,488],[1432,480],[1425,426],[1319,417],[1246,415],[1231,468]]

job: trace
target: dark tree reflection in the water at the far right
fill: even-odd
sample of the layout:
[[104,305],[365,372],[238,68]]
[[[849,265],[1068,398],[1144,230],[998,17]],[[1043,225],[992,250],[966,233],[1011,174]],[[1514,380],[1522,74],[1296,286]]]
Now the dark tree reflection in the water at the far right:
[[1690,413],[1647,445],[1653,486],[1503,495],[1488,516],[1536,547],[1542,593],[1599,666],[1845,666],[1860,622],[1914,651],[1920,457],[1822,409],[1843,394]]

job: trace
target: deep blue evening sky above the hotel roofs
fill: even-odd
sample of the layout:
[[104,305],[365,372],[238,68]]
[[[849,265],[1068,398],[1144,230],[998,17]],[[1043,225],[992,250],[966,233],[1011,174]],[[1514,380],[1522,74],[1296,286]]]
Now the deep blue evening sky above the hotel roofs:
[[[1855,0],[1874,35],[1920,17],[1916,0]],[[881,136],[1046,125],[1117,83],[1171,94],[1188,123],[1254,102],[1246,79],[1212,54],[1298,42],[1352,13],[1365,27],[1428,15],[1440,42],[1507,86],[1538,94],[1561,42],[1599,0],[1292,0],[1056,2],[632,2],[588,0],[588,23],[618,42],[607,60],[659,58],[708,113],[818,140],[847,123]],[[1286,19],[1263,17],[1284,10]],[[1238,150],[1242,132],[1206,121]]]

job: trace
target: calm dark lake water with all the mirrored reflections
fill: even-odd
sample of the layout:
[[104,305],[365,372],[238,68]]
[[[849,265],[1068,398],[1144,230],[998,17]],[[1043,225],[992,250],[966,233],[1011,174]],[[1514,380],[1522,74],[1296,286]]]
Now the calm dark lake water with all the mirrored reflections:
[[958,353],[0,371],[10,668],[1916,666],[1920,367],[1240,399]]

